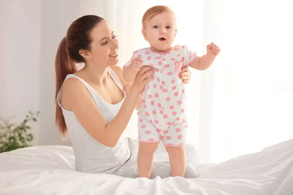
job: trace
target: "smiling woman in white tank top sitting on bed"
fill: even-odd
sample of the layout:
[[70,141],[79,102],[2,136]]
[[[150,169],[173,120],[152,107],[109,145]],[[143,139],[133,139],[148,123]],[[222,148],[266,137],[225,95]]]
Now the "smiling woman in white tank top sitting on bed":
[[[119,44],[107,22],[98,16],[75,20],[62,39],[55,61],[56,123],[70,137],[76,170],[136,178],[138,142],[120,138],[133,113],[141,105],[140,93],[154,70],[144,66],[133,83],[122,77]],[[75,63],[84,62],[77,70]],[[187,83],[190,72],[181,76]],[[127,96],[126,96],[127,95]],[[170,176],[167,159],[154,160],[152,177]],[[188,166],[187,166],[188,167]],[[195,177],[187,168],[187,177]]]

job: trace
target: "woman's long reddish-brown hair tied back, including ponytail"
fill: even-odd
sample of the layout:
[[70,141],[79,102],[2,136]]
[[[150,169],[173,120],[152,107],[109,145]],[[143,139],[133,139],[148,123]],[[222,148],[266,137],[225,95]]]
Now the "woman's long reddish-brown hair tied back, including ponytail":
[[55,59],[56,71],[56,118],[55,122],[63,137],[67,136],[67,128],[61,107],[57,104],[57,95],[62,87],[63,81],[68,74],[77,71],[76,63],[85,62],[84,57],[79,54],[81,49],[90,50],[92,41],[90,32],[103,18],[94,15],[83,16],[71,23],[66,36],[61,40]]

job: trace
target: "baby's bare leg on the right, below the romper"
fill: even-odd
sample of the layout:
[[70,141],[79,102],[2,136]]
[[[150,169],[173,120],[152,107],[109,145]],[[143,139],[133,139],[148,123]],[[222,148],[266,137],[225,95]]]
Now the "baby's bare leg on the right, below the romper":
[[186,156],[185,146],[182,147],[171,147],[165,146],[166,151],[169,155],[171,176],[184,176],[186,167]]

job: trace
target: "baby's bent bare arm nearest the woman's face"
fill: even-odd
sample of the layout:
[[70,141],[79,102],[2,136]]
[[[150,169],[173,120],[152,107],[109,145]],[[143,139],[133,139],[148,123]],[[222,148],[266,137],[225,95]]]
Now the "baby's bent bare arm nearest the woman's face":
[[125,65],[123,67],[122,75],[123,75],[123,78],[127,82],[133,82],[134,81],[138,71],[140,70],[142,62],[143,61],[139,57],[136,57],[135,59],[133,59],[131,61],[131,63],[129,65]]

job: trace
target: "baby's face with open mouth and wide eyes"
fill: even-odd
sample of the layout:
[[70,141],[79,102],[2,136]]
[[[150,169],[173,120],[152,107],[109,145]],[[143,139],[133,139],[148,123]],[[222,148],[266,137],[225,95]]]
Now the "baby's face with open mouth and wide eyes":
[[172,13],[162,13],[145,22],[144,38],[156,52],[167,52],[177,33],[176,19]]

